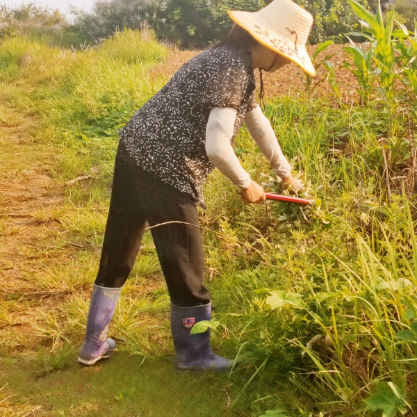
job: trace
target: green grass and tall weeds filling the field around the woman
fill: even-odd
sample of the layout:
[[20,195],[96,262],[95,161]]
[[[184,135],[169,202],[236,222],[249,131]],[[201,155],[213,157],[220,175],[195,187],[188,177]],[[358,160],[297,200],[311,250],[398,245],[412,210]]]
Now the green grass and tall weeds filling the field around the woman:
[[[20,259],[35,262],[15,277],[19,288],[0,293],[1,377],[8,382],[0,411],[416,415],[417,28],[394,22],[392,12],[384,22],[381,8],[374,15],[350,3],[367,40],[344,48],[343,65],[361,85],[357,100],[341,99],[334,68],[320,58],[323,45],[314,60],[327,69],[332,97],[313,98],[315,81],[306,79],[305,91],[275,97],[266,108],[316,206],[245,206],[218,172],[206,184],[208,208],[200,212],[206,281],[215,349],[234,358],[227,375],[177,375],[166,360],[169,299],[147,235],[111,325],[115,357],[95,369],[74,363],[103,238],[117,129],[167,81],[152,71],[166,59],[166,47],[153,31],[129,29],[83,51],[23,35],[3,39],[0,124],[9,129],[35,118],[29,136],[58,154],[49,170],[63,197],[28,213],[40,231]],[[279,190],[245,129],[236,152],[254,179]],[[19,183],[26,174],[21,168],[2,175]],[[12,215],[0,218],[3,247],[24,233],[10,225]],[[80,381],[84,388],[74,393]]]

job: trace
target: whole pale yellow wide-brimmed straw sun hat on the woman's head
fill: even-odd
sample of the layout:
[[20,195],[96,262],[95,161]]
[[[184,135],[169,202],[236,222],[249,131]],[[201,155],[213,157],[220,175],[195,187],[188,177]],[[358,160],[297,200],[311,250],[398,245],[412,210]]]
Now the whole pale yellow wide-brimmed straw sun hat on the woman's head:
[[291,0],[274,0],[258,12],[234,12],[229,16],[259,43],[315,75],[306,51],[313,16]]

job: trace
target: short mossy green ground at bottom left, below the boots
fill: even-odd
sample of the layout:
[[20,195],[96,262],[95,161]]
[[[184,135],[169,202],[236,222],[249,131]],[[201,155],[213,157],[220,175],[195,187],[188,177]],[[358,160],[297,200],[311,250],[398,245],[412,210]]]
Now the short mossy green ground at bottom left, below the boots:
[[[42,404],[45,416],[99,416],[105,412],[108,416],[203,417],[224,414],[227,395],[234,395],[243,382],[240,378],[232,383],[227,375],[213,373],[179,374],[170,358],[142,363],[123,352],[95,368],[83,368],[76,363],[74,352],[72,356],[66,353],[67,358],[61,354],[59,359],[38,356],[17,372],[7,388],[19,392],[17,400],[30,397]],[[49,372],[53,366],[56,369]],[[10,360],[2,368],[16,373],[17,367]],[[238,411],[231,413],[238,415]]]

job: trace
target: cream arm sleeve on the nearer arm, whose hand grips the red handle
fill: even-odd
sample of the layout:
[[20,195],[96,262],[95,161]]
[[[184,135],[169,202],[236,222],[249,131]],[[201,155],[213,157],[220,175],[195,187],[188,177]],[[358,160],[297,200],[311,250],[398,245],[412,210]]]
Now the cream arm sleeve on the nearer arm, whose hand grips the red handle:
[[236,111],[215,107],[211,110],[206,127],[206,152],[213,165],[239,188],[250,186],[250,174],[240,165],[230,144]]

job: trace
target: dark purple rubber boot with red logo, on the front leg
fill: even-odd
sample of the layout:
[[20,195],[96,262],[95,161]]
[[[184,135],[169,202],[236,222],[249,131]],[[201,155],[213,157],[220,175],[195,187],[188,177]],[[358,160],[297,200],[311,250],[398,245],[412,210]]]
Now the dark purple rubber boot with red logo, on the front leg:
[[179,307],[171,303],[171,332],[176,367],[180,370],[223,370],[232,361],[211,351],[210,329],[190,334],[195,323],[211,319],[211,302],[204,306]]

